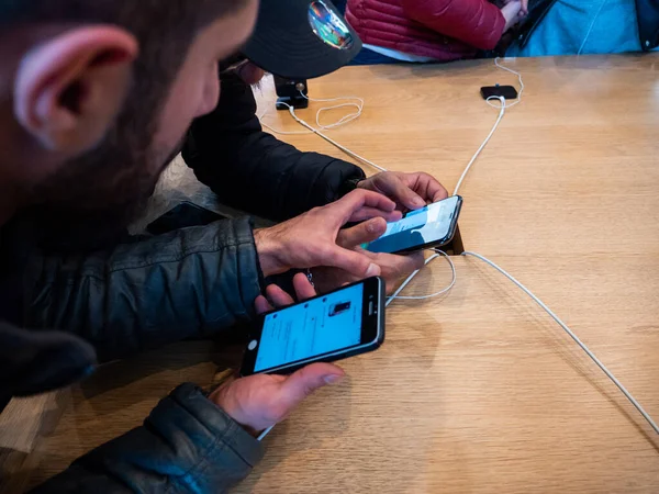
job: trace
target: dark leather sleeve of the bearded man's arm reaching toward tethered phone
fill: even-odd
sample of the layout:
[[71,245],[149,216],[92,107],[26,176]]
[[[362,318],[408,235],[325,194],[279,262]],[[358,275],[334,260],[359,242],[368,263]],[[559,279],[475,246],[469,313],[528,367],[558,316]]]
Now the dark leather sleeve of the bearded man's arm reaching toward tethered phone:
[[77,334],[101,361],[245,323],[263,282],[248,218],[34,255],[25,273],[25,326]]

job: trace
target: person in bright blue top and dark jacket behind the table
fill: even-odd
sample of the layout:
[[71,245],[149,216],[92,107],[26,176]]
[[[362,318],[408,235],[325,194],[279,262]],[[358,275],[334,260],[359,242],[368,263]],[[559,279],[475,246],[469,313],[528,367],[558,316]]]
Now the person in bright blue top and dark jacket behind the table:
[[649,52],[659,45],[656,0],[529,0],[506,56]]

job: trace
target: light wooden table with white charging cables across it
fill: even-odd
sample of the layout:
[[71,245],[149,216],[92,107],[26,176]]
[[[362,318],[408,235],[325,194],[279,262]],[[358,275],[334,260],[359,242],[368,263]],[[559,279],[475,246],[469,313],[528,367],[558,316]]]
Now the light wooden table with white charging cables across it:
[[[462,186],[465,247],[526,283],[659,418],[659,57],[506,64],[526,90]],[[361,67],[311,94],[364,97],[364,115],[331,136],[451,189],[494,123],[479,88],[495,82],[516,80],[491,60]],[[266,119],[300,130],[287,113]],[[342,156],[314,135],[286,138]],[[237,492],[659,492],[659,436],[614,385],[501,274],[456,266],[445,297],[390,306],[381,350],[343,362],[345,383],[278,426]],[[410,293],[448,279],[436,261]],[[179,381],[210,380],[204,358],[78,392],[41,475],[138,424]]]

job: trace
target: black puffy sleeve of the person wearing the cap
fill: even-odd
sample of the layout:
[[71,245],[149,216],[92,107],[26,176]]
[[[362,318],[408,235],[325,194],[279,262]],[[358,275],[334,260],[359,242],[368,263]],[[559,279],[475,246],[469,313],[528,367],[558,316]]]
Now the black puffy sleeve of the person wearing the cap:
[[355,165],[264,132],[252,88],[236,76],[221,83],[220,103],[192,124],[183,158],[223,204],[283,221],[335,201],[346,182],[365,177]]

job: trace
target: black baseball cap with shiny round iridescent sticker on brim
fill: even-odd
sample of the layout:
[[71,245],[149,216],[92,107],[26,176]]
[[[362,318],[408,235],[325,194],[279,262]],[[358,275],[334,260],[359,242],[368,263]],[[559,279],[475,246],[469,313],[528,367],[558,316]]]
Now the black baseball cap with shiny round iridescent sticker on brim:
[[243,54],[287,79],[324,76],[348,64],[361,41],[330,0],[260,0]]

